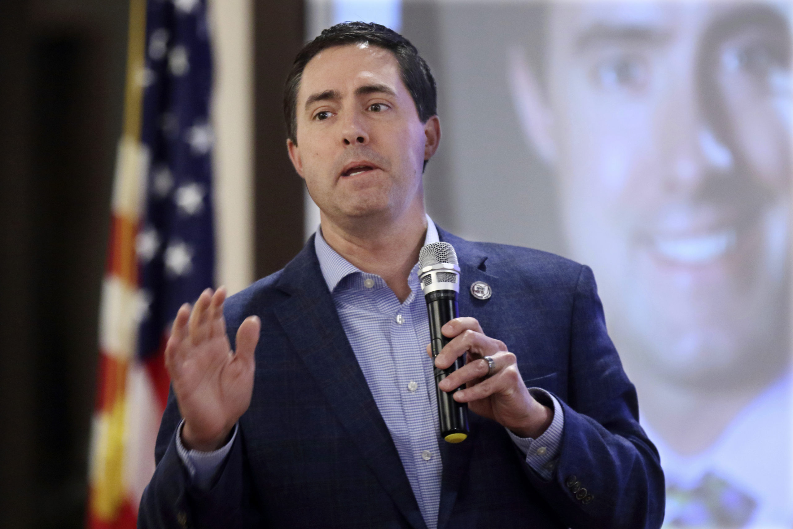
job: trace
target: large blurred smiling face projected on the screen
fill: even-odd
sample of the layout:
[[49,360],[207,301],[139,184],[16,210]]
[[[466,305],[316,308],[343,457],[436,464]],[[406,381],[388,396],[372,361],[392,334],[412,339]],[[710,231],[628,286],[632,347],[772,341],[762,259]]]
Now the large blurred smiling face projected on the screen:
[[534,137],[627,365],[700,386],[768,378],[787,355],[787,18],[588,3],[554,8],[548,30]]

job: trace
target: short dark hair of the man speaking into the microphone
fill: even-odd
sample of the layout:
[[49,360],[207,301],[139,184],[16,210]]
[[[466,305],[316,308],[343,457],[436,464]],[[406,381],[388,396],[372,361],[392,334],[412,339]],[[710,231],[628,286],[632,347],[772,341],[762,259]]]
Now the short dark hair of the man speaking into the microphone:
[[384,25],[342,22],[325,29],[320,36],[306,44],[292,64],[284,87],[284,117],[289,140],[297,144],[297,90],[300,88],[305,65],[324,49],[361,43],[387,49],[397,57],[400,77],[404,86],[407,86],[413,102],[416,103],[416,110],[419,111],[419,120],[422,123],[427,123],[428,119],[438,113],[435,78],[432,77],[427,62],[419,56],[416,46]]

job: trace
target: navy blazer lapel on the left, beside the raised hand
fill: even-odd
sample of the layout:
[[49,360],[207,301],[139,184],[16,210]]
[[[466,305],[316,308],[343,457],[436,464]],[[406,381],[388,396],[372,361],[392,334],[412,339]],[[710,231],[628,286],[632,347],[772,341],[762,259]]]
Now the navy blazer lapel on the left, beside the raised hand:
[[290,297],[275,314],[297,355],[397,508],[412,527],[426,529],[397,448],[344,333],[313,238],[285,267],[278,288]]

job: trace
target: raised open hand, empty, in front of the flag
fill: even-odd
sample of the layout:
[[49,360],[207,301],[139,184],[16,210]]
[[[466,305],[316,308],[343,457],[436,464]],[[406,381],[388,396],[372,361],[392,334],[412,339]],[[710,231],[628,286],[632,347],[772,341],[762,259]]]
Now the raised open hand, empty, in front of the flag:
[[165,349],[165,365],[185,419],[182,443],[209,451],[221,447],[251,404],[254,351],[261,322],[248,316],[237,330],[236,353],[226,337],[226,290],[206,289],[192,311],[178,310]]

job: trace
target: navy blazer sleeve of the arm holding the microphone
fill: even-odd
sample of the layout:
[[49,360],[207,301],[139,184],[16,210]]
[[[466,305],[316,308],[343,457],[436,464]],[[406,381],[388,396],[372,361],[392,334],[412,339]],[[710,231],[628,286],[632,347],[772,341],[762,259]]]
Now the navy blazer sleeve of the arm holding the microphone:
[[[550,481],[534,488],[573,529],[653,529],[664,519],[658,452],[638,424],[638,399],[606,331],[592,270],[582,266],[571,316],[568,401]],[[525,462],[523,463],[525,465]]]

